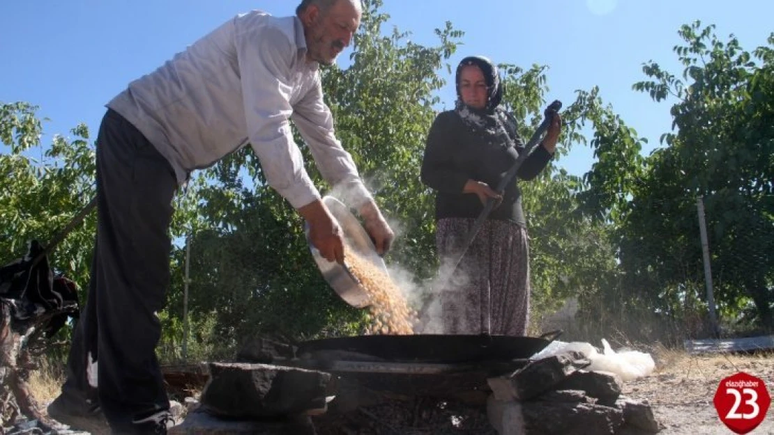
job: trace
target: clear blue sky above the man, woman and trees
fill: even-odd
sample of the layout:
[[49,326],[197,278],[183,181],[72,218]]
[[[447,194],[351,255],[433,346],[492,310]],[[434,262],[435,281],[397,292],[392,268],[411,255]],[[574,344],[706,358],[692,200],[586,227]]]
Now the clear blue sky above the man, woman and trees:
[[[385,0],[389,25],[434,43],[433,29],[450,21],[464,46],[451,59],[483,54],[496,62],[547,65],[550,100],[574,100],[574,90],[601,88],[623,120],[649,139],[649,152],[670,131],[669,104],[631,90],[642,63],[655,60],[678,74],[672,47],[680,25],[717,25],[752,50],[774,31],[774,2],[748,0]],[[0,3],[0,101],[27,101],[51,121],[46,137],[68,134],[78,122],[94,133],[104,103],[127,83],[239,12],[290,15],[293,0],[5,0]],[[345,64],[344,59],[340,59]],[[448,84],[445,104],[454,100]],[[344,144],[346,147],[346,144]],[[588,148],[560,161],[570,172],[591,167]]]

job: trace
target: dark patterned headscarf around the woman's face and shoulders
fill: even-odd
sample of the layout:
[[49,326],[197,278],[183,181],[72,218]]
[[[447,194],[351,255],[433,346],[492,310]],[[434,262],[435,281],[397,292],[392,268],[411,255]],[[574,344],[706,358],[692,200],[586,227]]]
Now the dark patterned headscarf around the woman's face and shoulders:
[[[483,109],[477,109],[464,104],[462,93],[460,92],[460,78],[462,70],[466,66],[478,66],[484,73],[484,80],[487,87],[487,102]],[[457,65],[457,74],[455,76],[457,85],[457,103],[454,110],[460,116],[462,122],[474,134],[485,138],[490,143],[498,143],[509,147],[512,145],[512,138],[505,129],[505,123],[510,122],[505,110],[499,107],[502,101],[502,83],[500,83],[500,74],[497,66],[484,56],[467,56]],[[515,127],[515,125],[514,125]]]

